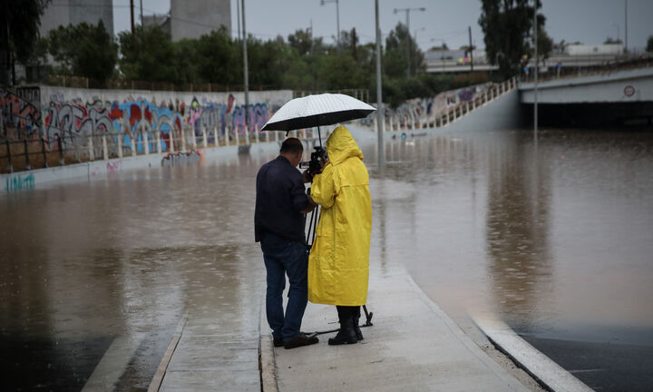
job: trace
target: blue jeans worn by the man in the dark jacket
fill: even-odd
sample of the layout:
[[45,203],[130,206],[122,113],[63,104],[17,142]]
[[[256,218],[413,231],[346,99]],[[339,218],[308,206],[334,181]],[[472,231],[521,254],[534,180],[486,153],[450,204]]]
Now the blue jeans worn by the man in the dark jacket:
[[[272,336],[284,340],[295,338],[299,335],[308,300],[307,247],[301,242],[284,240],[274,234],[265,233],[261,239],[261,250],[268,270],[266,314]],[[286,288],[286,274],[290,289],[284,317],[282,296]]]

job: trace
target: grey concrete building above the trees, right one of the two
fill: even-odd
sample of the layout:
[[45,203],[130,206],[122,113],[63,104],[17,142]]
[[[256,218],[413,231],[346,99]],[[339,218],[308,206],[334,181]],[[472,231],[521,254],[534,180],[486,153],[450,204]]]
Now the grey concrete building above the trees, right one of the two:
[[171,0],[172,41],[200,38],[227,27],[231,35],[231,0]]

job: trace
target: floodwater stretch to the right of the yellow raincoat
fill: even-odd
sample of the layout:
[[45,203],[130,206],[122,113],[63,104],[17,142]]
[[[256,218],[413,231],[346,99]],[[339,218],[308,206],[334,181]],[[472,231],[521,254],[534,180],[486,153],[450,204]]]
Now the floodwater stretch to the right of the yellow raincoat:
[[444,309],[565,338],[640,328],[653,344],[653,134],[541,130],[535,151],[531,132],[434,132],[385,154],[383,175],[370,166],[386,228],[372,249]]

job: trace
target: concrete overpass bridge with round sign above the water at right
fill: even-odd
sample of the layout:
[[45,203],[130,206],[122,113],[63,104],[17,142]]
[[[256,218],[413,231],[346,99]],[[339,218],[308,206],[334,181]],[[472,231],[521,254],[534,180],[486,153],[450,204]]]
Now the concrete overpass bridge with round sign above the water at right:
[[[653,64],[645,65],[538,83],[539,122],[554,126],[650,124],[653,119]],[[519,83],[522,105],[532,106],[534,87],[532,81]]]

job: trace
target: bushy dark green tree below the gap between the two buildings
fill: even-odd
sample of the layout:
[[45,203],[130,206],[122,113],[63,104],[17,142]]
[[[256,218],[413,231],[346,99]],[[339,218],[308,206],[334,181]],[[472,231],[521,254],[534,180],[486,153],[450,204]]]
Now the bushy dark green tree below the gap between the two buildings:
[[138,26],[135,34],[118,34],[118,41],[122,54],[120,70],[125,78],[157,82],[178,80],[171,37],[161,26]]

